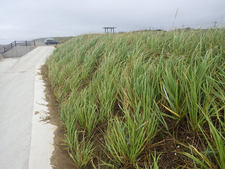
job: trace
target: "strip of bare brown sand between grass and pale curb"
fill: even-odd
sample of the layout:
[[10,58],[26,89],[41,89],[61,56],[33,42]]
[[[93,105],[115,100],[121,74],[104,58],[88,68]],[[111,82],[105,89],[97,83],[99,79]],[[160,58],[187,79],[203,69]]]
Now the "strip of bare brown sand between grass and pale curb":
[[[42,79],[45,83],[45,97],[48,102],[48,110],[50,116],[50,124],[58,126],[54,132],[54,147],[55,150],[52,153],[51,165],[54,169],[74,169],[75,166],[71,160],[66,146],[63,145],[64,130],[60,120],[60,106],[57,102],[54,94],[52,93],[51,86],[47,77],[48,68],[46,65],[41,67]],[[48,119],[49,120],[49,119]]]

